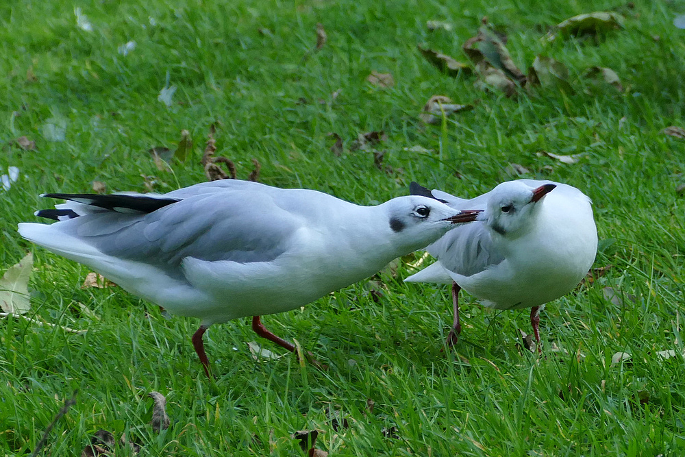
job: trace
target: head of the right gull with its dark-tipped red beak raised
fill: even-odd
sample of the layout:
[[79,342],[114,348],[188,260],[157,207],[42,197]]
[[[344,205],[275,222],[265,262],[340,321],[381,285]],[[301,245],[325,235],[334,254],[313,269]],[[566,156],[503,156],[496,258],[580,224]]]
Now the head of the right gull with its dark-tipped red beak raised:
[[488,197],[488,206],[478,220],[501,236],[516,237],[527,232],[535,223],[543,197],[556,184],[532,187],[520,181],[503,182]]

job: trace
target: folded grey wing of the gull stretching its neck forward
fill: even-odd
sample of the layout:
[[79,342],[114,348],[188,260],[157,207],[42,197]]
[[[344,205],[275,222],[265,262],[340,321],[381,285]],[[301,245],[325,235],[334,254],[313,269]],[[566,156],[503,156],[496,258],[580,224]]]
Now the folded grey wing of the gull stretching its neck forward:
[[178,266],[188,256],[208,261],[273,260],[288,249],[301,221],[268,193],[240,187],[215,186],[214,191],[195,193],[149,214],[86,214],[60,224],[105,254],[150,264]]

